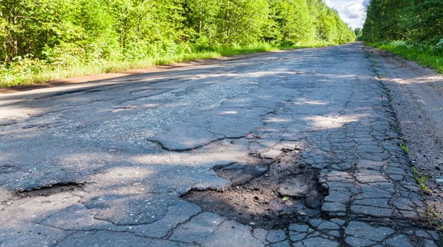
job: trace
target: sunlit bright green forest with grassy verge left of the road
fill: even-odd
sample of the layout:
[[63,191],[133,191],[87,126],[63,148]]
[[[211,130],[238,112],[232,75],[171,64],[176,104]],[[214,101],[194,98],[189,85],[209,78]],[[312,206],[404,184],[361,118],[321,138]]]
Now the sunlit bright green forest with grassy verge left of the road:
[[0,2],[0,86],[355,39],[323,0]]

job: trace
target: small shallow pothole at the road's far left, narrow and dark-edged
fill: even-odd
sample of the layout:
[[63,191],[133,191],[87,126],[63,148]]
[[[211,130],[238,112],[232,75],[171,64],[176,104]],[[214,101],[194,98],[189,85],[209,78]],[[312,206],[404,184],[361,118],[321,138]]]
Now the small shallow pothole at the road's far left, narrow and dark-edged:
[[55,183],[53,185],[36,187],[30,190],[16,192],[15,196],[17,196],[19,199],[36,196],[51,196],[53,194],[76,190],[83,187],[83,185],[84,183]]

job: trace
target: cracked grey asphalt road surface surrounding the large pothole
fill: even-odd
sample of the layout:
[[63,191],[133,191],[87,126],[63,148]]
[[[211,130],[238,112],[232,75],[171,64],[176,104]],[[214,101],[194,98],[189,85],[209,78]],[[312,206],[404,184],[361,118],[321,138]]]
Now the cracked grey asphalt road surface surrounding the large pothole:
[[[442,246],[363,44],[0,95],[0,246]],[[321,215],[264,229],[181,199],[213,167],[318,170]]]

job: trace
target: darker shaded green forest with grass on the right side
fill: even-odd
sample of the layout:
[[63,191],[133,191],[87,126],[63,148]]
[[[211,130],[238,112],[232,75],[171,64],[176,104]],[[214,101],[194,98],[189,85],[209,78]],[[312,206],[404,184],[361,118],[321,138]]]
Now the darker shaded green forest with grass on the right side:
[[372,0],[363,40],[443,72],[443,1]]

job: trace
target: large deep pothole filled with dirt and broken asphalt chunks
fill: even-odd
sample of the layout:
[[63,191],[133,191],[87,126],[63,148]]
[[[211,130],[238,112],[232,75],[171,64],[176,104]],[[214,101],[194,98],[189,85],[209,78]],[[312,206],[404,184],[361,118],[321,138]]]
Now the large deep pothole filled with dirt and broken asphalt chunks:
[[182,198],[204,211],[265,229],[283,229],[290,223],[319,218],[327,194],[318,182],[319,171],[305,167],[296,152],[285,151],[274,161],[215,167],[219,176],[233,182],[232,187],[192,190]]

